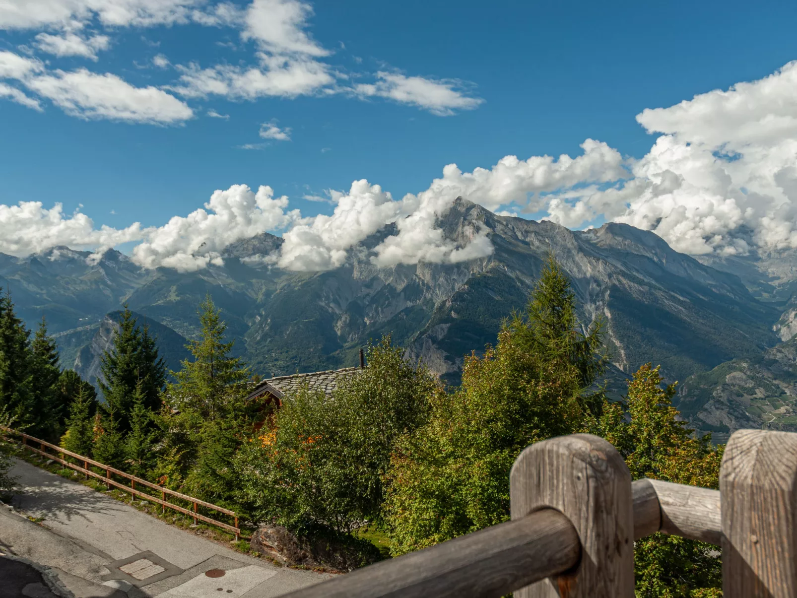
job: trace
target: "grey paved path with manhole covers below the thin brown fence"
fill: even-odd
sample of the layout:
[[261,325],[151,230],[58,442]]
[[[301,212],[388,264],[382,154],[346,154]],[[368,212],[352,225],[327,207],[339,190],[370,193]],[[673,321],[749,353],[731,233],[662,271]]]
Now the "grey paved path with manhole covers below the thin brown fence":
[[52,568],[75,596],[267,598],[327,577],[248,557],[24,461],[10,473],[22,487],[14,508],[44,521],[0,509],[0,545]]

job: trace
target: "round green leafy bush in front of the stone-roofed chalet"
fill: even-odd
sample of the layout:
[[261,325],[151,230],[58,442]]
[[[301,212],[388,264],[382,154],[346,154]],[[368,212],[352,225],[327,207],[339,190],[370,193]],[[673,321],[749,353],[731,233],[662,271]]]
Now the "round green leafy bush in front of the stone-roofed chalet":
[[286,396],[242,447],[241,499],[256,517],[306,533],[350,533],[379,520],[395,441],[426,422],[430,396],[443,392],[389,336],[367,359],[332,396],[308,388]]

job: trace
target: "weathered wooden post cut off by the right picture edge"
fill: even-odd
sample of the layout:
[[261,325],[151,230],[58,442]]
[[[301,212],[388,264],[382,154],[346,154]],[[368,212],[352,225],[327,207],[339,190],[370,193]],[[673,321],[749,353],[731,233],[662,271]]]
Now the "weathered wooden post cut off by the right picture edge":
[[734,432],[720,501],[724,598],[797,596],[797,434]]

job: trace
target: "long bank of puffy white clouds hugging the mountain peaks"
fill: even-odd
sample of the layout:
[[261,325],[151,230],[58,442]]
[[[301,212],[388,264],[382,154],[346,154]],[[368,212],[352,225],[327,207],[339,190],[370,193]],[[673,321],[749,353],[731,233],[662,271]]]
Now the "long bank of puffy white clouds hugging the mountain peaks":
[[[308,37],[270,43],[304,48],[305,56],[320,51]],[[3,68],[41,73],[26,61],[0,62]],[[493,248],[484,230],[474,228],[465,246],[455,246],[437,226],[460,195],[489,210],[544,214],[571,228],[627,222],[687,254],[797,248],[797,61],[759,81],[646,109],[637,120],[658,134],[642,159],[585,140],[575,157],[508,155],[472,172],[449,164],[425,191],[398,200],[359,180],[331,193],[329,216],[302,218],[270,187],[255,193],[242,185],[216,191],[203,210],[148,229],[96,229],[84,214],[64,214],[59,205],[0,206],[0,251],[22,255],[58,244],[102,249],[140,240],[132,257],[142,266],[197,269],[218,263],[226,244],[271,230],[284,231],[285,243],[264,261],[313,271],[340,266],[352,246],[395,222],[396,234],[371,256],[378,266],[487,256]]]

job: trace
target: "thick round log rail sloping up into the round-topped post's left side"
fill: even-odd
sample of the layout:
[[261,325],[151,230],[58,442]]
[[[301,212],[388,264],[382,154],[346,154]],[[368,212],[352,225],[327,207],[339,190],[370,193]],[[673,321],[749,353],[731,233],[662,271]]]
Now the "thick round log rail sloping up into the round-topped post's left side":
[[579,551],[567,517],[543,509],[282,598],[497,598],[574,567]]

